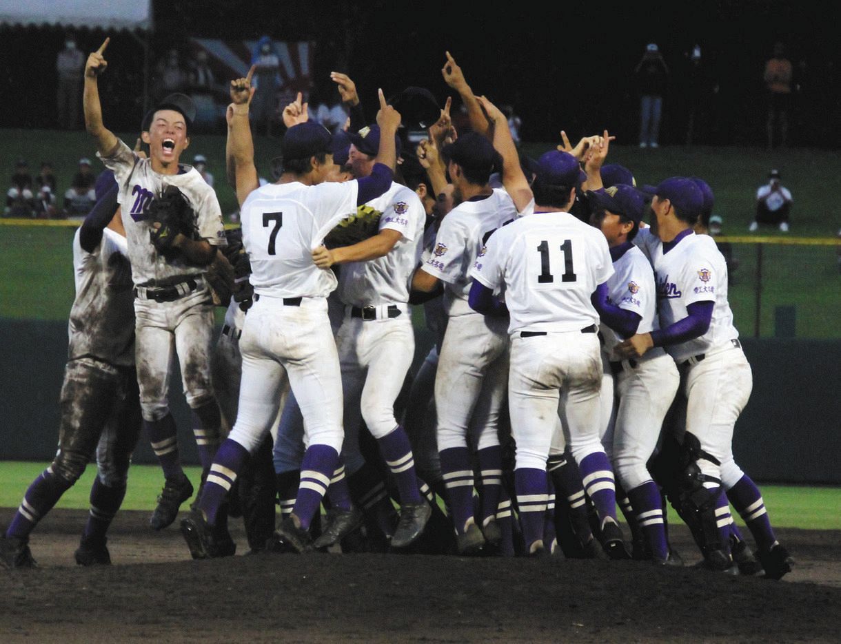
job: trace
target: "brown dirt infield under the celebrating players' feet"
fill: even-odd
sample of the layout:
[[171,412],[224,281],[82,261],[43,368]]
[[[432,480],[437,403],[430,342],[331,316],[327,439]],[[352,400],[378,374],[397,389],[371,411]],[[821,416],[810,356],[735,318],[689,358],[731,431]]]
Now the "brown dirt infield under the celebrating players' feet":
[[[0,525],[12,510],[0,510]],[[782,582],[642,562],[258,555],[193,562],[146,513],[112,567],[72,565],[86,513],[56,510],[40,569],[0,568],[0,641],[838,641],[841,531],[779,531]],[[234,536],[245,549],[236,522]],[[675,545],[694,556],[688,533]]]

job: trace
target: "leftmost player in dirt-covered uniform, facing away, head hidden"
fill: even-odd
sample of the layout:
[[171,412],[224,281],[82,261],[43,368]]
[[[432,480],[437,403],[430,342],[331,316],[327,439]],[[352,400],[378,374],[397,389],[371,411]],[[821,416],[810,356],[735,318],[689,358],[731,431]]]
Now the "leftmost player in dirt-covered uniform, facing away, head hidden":
[[76,299],[59,400],[59,449],[50,467],[29,485],[0,538],[0,563],[8,567],[34,567],[29,534],[82,476],[94,453],[98,476],[75,557],[82,566],[111,562],[106,533],[123,502],[131,452],[140,433],[140,404],[131,270],[117,186],[113,178],[110,183],[73,237]]

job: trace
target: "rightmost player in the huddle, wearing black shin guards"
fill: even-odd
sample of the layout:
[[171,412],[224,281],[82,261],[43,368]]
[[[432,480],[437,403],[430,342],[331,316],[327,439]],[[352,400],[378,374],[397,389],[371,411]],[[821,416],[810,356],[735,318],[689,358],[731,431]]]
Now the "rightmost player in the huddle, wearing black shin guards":
[[652,232],[641,243],[657,281],[660,329],[632,335],[614,351],[638,360],[664,346],[680,367],[687,403],[677,500],[682,512],[701,518],[706,564],[733,565],[723,494],[730,490],[757,540],[766,577],[778,579],[791,570],[790,557],[775,538],[759,489],[733,462],[733,426],[753,378],[727,302],[727,265],[715,241],[692,230],[703,208],[696,182],[672,177],[652,192]]

